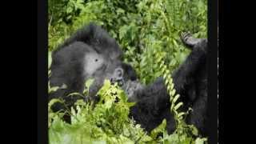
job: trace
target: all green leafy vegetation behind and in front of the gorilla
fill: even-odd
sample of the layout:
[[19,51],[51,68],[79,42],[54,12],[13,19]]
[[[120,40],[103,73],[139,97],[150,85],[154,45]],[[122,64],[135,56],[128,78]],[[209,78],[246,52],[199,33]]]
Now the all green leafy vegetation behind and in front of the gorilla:
[[[170,74],[186,58],[187,50],[179,38],[183,31],[206,38],[206,0],[49,0],[49,50],[55,50],[78,28],[95,22],[117,40],[124,51],[124,62],[136,70],[142,83],[163,76],[172,103],[177,130],[166,133],[166,121],[150,134],[128,117],[126,95],[106,81],[98,91],[100,102],[76,102],[70,111],[54,113],[49,108],[50,143],[203,143],[194,126],[186,125],[189,112],[179,111]],[[87,82],[86,87],[90,87]],[[58,87],[50,87],[53,93]],[[86,93],[88,91],[84,91]],[[115,98],[119,102],[114,102]],[[104,102],[103,102],[104,100]],[[49,107],[54,99],[49,102]],[[94,106],[94,108],[93,108]],[[71,124],[63,114],[71,115]],[[162,133],[162,137],[157,137]]]

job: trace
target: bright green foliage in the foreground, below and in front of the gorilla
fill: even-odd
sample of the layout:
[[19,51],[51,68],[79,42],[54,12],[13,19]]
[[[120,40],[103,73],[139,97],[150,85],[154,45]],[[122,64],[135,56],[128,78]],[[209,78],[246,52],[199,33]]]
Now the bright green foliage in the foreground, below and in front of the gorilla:
[[[48,126],[50,143],[195,143],[200,144],[205,138],[196,138],[197,130],[194,126],[188,126],[183,122],[182,113],[177,113],[178,129],[174,134],[166,132],[166,120],[152,130],[150,134],[135,124],[129,118],[129,108],[133,102],[127,102],[126,94],[117,83],[110,84],[106,80],[101,90],[98,91],[99,102],[94,106],[93,102],[78,100],[75,106],[68,112],[71,123],[62,120],[65,112],[54,113],[50,106],[54,102],[63,102],[52,99],[48,107]],[[175,97],[174,99],[178,99]],[[117,102],[118,100],[118,102]],[[173,100],[173,104],[174,104]],[[172,105],[174,106],[174,105]],[[172,111],[178,110],[180,105],[174,106]],[[177,111],[176,111],[177,112]],[[190,134],[191,131],[191,134]],[[158,134],[163,134],[158,138]]]

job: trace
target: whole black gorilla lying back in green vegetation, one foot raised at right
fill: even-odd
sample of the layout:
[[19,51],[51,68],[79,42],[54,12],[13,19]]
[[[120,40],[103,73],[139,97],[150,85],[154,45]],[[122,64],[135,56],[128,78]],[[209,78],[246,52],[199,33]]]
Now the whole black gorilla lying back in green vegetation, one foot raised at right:
[[[204,135],[207,116],[207,41],[183,34],[182,42],[192,51],[178,70],[174,71],[174,88],[182,96],[184,110],[189,106],[193,109],[186,122],[194,124]],[[117,42],[100,26],[90,23],[89,26],[78,30],[54,51],[52,58],[50,86],[66,84],[67,88],[50,94],[49,100],[64,98],[66,105],[72,106],[81,97],[66,95],[73,92],[82,93],[84,82],[88,78],[94,78],[94,83],[90,86],[90,98],[97,98],[95,94],[104,79],[110,79],[111,82],[118,82],[122,86],[130,101],[137,102],[131,108],[130,116],[143,128],[147,131],[153,130],[166,118],[168,133],[174,131],[175,122],[170,114],[170,98],[163,79],[158,78],[149,86],[140,84],[134,69],[122,62],[122,50]],[[63,108],[59,103],[52,107],[53,110]]]

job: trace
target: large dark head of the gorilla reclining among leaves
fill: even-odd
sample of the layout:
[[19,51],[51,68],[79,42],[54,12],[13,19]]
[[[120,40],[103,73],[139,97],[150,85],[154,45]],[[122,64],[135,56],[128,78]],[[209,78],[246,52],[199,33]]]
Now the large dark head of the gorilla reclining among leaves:
[[[137,81],[132,66],[122,62],[122,50],[114,38],[110,38],[105,30],[92,23],[78,30],[59,46],[53,52],[52,59],[50,86],[61,87],[65,84],[67,88],[50,94],[49,100],[61,97],[65,99],[67,106],[72,106],[81,97],[66,95],[82,93],[84,83],[89,78],[94,78],[89,92],[91,97],[95,96],[105,79],[118,82],[124,90],[128,90],[130,83]],[[129,91],[132,94],[131,89]],[[54,107],[55,110],[62,109],[60,104]]]

